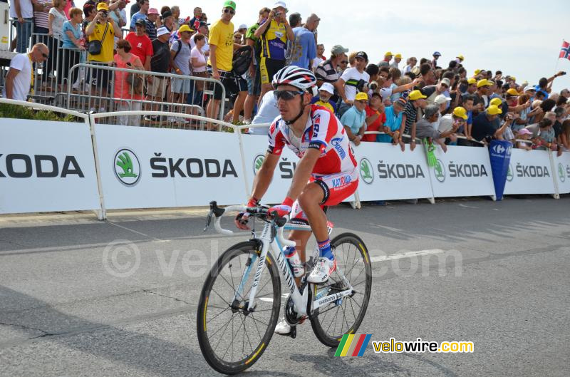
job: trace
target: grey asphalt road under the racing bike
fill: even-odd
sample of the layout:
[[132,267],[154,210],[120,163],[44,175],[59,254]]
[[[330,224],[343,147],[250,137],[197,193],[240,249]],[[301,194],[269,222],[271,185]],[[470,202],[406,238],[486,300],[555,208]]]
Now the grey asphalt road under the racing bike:
[[[569,214],[569,197],[334,208],[335,233],[360,234],[375,260],[358,333],[475,352],[370,344],[333,357],[304,324],[245,374],[570,376]],[[0,376],[217,375],[197,344],[197,297],[207,267],[247,234],[204,234],[202,215],[0,217]]]

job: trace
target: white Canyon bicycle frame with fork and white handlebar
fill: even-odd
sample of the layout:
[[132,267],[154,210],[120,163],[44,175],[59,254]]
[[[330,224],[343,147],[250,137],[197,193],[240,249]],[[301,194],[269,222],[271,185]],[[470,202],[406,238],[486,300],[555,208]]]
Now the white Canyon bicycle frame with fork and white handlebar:
[[[245,212],[246,210],[247,210],[247,207],[244,205],[232,205],[232,206],[224,208],[224,215],[227,212]],[[222,228],[222,226],[220,224],[222,217],[223,217],[223,215],[216,217],[216,219],[214,221],[214,229],[216,229],[216,231],[219,232],[220,234],[225,234],[225,235],[234,234],[234,232],[232,232],[231,230]],[[273,225],[273,226],[276,227],[276,225]],[[261,235],[259,237],[256,236],[256,238],[261,241],[262,247],[261,247],[261,253],[259,254],[259,260],[257,261],[257,269],[255,272],[254,282],[252,284],[252,289],[249,291],[249,304],[248,304],[247,309],[253,310],[255,307],[255,295],[257,293],[258,284],[261,281],[261,274],[263,274],[265,259],[266,259],[267,253],[269,252],[269,249],[271,248],[271,253],[274,257],[274,260],[276,260],[277,267],[279,267],[279,272],[281,273],[281,279],[284,279],[287,286],[289,287],[289,290],[291,291],[291,299],[293,300],[294,309],[295,309],[296,313],[298,314],[299,317],[308,315],[309,313],[307,313],[307,299],[308,299],[308,295],[309,295],[309,289],[311,289],[311,288],[309,287],[309,284],[306,284],[305,289],[303,290],[302,294],[299,292],[299,289],[297,289],[297,286],[295,284],[295,279],[293,277],[293,274],[291,273],[291,268],[289,267],[289,263],[287,263],[286,257],[283,253],[283,247],[284,246],[294,247],[295,242],[291,241],[289,239],[285,239],[283,237],[283,231],[284,230],[311,231],[311,227],[303,226],[303,225],[296,225],[296,224],[289,224],[289,223],[286,224],[284,227],[276,227],[277,231],[276,231],[275,237],[273,237],[273,240],[271,240],[271,230],[272,230],[271,227],[272,227],[272,224],[269,222],[266,222],[263,230],[261,231]],[[238,289],[234,295],[234,300],[235,299],[239,300],[239,298],[242,297],[242,292],[243,292],[244,286],[247,282],[247,279],[249,279],[249,274],[251,272],[252,266],[255,265],[255,259],[256,258],[254,256],[254,258],[252,259],[252,263],[250,263],[249,266],[247,267],[247,269],[245,269],[244,274],[242,276],[242,280],[239,283],[239,287],[238,287]],[[319,296],[318,295],[318,296],[314,297],[313,302],[311,303],[311,308],[309,309],[311,311],[311,313],[321,306],[324,306],[326,304],[330,304],[333,301],[336,301],[338,299],[342,299],[345,296],[349,296],[349,295],[353,294],[353,291],[354,291],[353,286],[350,284],[350,282],[348,282],[348,279],[346,279],[344,273],[341,271],[341,269],[338,266],[336,268],[336,272],[342,277],[343,284],[345,284],[345,286],[348,286],[348,289],[345,289],[344,291],[337,292],[336,294],[330,294],[327,296]],[[328,293],[327,290],[325,290],[323,292]]]

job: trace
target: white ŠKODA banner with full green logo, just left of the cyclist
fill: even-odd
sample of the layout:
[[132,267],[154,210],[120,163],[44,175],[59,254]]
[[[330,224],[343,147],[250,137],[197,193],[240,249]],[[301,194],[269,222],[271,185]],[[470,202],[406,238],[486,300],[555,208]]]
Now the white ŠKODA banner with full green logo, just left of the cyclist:
[[245,202],[234,133],[95,125],[108,210]]

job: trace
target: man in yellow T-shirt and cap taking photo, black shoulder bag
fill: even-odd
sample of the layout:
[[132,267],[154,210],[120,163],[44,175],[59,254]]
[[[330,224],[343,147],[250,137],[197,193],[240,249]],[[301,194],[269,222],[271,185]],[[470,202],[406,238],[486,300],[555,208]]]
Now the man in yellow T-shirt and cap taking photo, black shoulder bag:
[[[121,38],[120,27],[108,15],[109,7],[105,3],[97,4],[97,14],[93,21],[87,26],[85,31],[88,41],[100,41],[100,53],[87,54],[87,61],[108,66],[113,63],[113,49],[115,48],[115,37]],[[103,98],[107,97],[110,71],[105,69],[90,69],[88,81],[91,85],[91,93]],[[98,93],[99,90],[99,93]],[[105,111],[105,101],[100,101],[100,111]],[[95,108],[91,108],[95,111]]]

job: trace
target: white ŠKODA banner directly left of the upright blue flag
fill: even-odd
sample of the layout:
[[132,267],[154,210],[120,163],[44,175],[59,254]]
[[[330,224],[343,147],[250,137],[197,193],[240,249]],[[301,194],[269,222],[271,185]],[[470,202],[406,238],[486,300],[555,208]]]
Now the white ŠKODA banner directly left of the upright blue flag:
[[494,196],[487,148],[448,145],[435,148],[437,163],[430,167],[435,197]]

